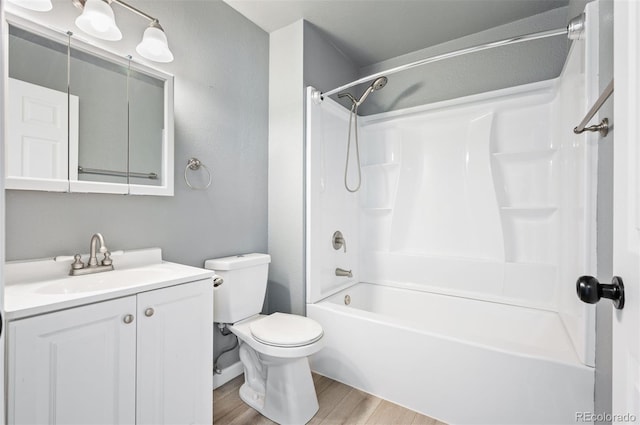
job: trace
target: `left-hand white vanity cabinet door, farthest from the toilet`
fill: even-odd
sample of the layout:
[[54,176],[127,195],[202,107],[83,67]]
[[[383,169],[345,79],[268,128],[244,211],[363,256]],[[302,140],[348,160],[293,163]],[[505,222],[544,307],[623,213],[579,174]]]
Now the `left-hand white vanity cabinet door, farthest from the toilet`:
[[135,422],[135,297],[9,323],[11,424]]

